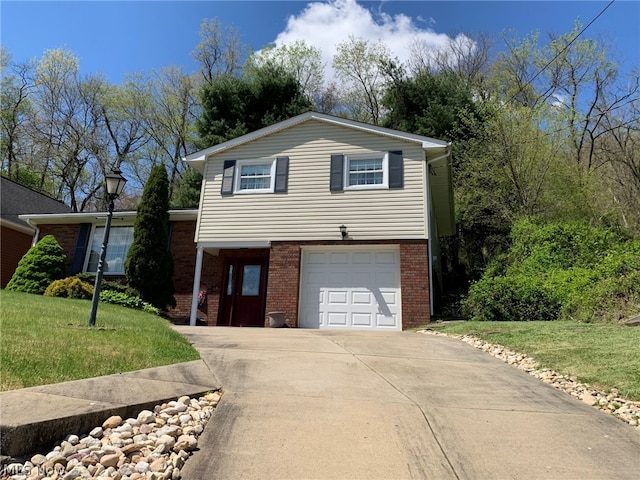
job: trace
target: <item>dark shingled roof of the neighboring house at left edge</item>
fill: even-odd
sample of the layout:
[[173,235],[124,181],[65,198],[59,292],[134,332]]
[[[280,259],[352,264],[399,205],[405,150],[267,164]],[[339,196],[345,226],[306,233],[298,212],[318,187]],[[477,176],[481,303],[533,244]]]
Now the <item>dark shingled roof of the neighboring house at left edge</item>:
[[25,213],[70,213],[71,208],[55,198],[36,192],[6,177],[0,177],[0,218],[9,226],[33,231],[33,227],[20,220]]

